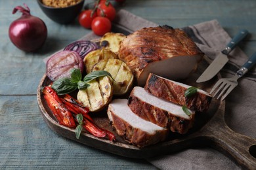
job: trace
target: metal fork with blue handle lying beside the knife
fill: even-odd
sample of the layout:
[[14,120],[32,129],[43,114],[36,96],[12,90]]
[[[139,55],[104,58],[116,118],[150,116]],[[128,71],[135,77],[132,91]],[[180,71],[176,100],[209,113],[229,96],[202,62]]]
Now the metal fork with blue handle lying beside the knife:
[[221,101],[223,101],[226,96],[238,85],[238,78],[241,78],[251,69],[256,63],[256,52],[244,63],[244,65],[236,71],[236,75],[231,78],[221,78],[219,81],[213,86],[210,94],[214,93],[213,97],[215,97],[218,93],[217,99],[221,96]]

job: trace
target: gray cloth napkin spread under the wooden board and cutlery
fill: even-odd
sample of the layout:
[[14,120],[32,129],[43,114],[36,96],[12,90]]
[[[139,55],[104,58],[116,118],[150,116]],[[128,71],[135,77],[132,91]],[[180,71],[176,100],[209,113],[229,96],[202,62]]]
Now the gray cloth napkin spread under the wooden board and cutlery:
[[[133,32],[142,27],[156,26],[149,22],[127,12],[119,10],[117,13],[115,27],[124,29],[127,32]],[[191,25],[182,28],[196,42],[198,47],[205,52],[209,58],[214,59],[230,41],[230,36],[217,20],[203,22],[197,25]],[[83,39],[95,39],[93,33],[86,35]],[[251,54],[249,54],[251,55]],[[230,77],[247,60],[247,56],[235,48],[229,57],[230,61],[224,66],[221,75]],[[239,86],[234,89],[226,98],[226,123],[238,133],[255,138],[256,137],[256,72],[255,67],[239,81]],[[223,154],[211,148],[191,148],[160,156],[158,158],[148,159],[150,163],[160,169],[240,169],[235,163],[223,156]]]

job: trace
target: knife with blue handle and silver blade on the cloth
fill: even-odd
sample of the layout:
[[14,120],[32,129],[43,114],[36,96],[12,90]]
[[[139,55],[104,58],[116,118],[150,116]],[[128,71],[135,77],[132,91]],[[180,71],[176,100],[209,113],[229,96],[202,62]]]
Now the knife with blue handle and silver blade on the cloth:
[[211,64],[203,71],[202,75],[196,80],[196,82],[205,82],[213,78],[213,76],[217,75],[219,71],[224,67],[224,65],[228,62],[228,54],[238,45],[242,39],[246,37],[248,31],[246,29],[242,29],[236,34],[233,39],[228,42],[226,48],[222,50],[218,56],[211,62]]

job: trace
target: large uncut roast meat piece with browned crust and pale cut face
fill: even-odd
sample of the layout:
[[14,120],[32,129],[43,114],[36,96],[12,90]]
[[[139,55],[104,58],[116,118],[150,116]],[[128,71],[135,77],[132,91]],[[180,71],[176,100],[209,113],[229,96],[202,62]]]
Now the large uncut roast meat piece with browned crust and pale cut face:
[[144,86],[149,73],[171,80],[186,78],[203,55],[184,31],[166,25],[135,31],[119,48],[119,58],[133,71],[139,86]]

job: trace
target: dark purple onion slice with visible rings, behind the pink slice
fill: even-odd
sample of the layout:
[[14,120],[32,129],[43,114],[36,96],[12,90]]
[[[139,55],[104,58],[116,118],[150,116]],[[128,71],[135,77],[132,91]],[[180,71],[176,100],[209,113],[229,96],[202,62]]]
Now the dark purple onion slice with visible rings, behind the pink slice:
[[64,48],[64,51],[65,50],[75,51],[83,59],[85,58],[86,54],[96,49],[98,49],[98,45],[95,42],[81,40],[81,41],[75,41],[75,42],[72,42],[71,44],[68,44],[68,46]]

